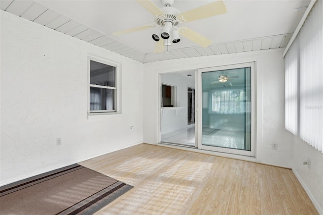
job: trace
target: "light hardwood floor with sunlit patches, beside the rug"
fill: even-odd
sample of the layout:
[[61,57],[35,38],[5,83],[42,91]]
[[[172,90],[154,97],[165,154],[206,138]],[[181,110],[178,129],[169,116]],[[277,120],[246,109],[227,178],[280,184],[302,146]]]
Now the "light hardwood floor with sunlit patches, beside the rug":
[[289,169],[149,144],[80,164],[134,186],[96,214],[318,214]]

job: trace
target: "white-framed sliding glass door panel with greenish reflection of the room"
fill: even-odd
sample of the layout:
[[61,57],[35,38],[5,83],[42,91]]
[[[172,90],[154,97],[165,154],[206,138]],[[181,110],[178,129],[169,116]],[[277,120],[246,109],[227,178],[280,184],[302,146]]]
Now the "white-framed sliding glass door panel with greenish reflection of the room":
[[252,65],[200,72],[199,148],[254,156]]

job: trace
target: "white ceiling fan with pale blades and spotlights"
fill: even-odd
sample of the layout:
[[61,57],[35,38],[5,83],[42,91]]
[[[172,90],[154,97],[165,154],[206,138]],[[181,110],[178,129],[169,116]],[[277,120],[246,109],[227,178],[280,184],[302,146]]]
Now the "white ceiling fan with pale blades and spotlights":
[[227,13],[227,8],[222,1],[213,2],[183,13],[172,7],[175,0],[161,0],[164,7],[160,9],[150,0],[136,0],[136,2],[155,16],[155,24],[125,29],[113,34],[120,36],[158,26],[157,31],[152,34],[152,39],[157,42],[154,50],[155,53],[163,52],[164,46],[170,46],[171,42],[178,43],[181,40],[179,34],[202,47],[209,46],[212,43],[210,39],[188,27],[179,25],[184,22],[192,22]]

